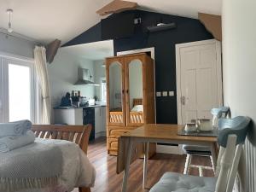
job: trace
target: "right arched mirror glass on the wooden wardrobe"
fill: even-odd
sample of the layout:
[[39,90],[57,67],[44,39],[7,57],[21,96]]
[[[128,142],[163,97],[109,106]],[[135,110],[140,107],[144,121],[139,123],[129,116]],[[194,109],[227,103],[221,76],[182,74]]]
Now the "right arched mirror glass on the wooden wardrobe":
[[143,123],[143,63],[133,60],[129,63],[129,122]]

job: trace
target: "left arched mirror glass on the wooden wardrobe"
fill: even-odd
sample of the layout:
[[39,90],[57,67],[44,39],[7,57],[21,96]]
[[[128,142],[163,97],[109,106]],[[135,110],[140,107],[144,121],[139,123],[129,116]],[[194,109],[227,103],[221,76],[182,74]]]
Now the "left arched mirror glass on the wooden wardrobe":
[[109,122],[123,122],[122,67],[117,61],[109,65]]

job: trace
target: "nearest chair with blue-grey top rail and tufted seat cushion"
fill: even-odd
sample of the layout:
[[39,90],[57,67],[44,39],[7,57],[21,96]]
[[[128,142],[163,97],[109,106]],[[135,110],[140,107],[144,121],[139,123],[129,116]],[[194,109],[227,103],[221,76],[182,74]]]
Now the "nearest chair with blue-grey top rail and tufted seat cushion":
[[250,120],[242,116],[219,120],[218,144],[220,149],[215,177],[196,177],[166,172],[149,192],[232,192]]

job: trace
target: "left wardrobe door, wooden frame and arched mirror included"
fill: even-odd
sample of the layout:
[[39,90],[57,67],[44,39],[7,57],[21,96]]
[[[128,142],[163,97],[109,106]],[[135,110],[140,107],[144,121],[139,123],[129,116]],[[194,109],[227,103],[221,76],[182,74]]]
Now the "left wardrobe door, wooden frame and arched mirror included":
[[107,67],[107,122],[108,125],[125,125],[125,67],[124,58],[109,58]]

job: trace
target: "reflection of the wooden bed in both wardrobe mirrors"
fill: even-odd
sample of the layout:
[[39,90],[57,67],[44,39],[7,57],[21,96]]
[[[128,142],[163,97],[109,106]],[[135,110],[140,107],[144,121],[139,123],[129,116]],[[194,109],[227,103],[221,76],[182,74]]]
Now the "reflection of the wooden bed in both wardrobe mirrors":
[[[132,102],[132,109],[130,111],[130,123],[132,124],[143,124],[143,98],[134,98]],[[122,123],[123,122],[122,108],[114,108],[110,111],[110,122],[111,123]]]

